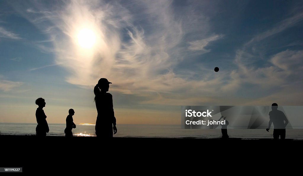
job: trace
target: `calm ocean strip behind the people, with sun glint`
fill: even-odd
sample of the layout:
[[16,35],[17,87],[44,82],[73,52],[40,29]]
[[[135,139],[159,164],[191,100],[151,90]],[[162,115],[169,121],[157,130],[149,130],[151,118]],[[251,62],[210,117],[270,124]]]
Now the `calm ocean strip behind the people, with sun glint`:
[[[35,135],[37,124],[0,123],[1,135]],[[65,136],[66,124],[48,124],[47,136]],[[72,130],[75,137],[95,137],[94,124],[76,124]],[[182,129],[181,125],[117,124],[118,133],[114,137],[160,137],[160,138],[219,138],[221,129]],[[273,129],[228,129],[234,138],[273,138]],[[303,140],[303,129],[287,129],[286,138]]]

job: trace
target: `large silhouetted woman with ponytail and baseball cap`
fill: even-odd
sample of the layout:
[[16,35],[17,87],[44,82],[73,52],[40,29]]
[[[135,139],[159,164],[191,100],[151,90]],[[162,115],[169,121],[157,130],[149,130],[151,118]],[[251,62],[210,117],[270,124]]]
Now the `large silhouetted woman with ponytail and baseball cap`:
[[112,94],[106,93],[109,84],[111,82],[106,78],[101,78],[94,87],[95,103],[98,112],[95,126],[97,137],[113,137],[113,130],[114,134],[117,133]]

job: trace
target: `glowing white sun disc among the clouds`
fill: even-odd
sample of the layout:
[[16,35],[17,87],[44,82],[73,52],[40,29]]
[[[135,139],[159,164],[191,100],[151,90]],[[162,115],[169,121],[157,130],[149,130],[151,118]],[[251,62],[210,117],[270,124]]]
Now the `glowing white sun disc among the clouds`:
[[90,29],[82,29],[78,33],[78,43],[83,48],[92,48],[96,42],[96,36]]

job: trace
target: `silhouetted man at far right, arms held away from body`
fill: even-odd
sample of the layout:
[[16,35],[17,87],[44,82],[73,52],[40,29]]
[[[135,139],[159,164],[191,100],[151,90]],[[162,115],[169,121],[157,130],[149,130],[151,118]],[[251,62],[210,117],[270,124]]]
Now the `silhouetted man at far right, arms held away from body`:
[[[269,122],[268,122],[268,128],[266,128],[266,131],[269,132],[269,129],[271,127],[271,123],[274,124],[274,139],[279,139],[279,136],[282,140],[285,139],[285,127],[288,124],[288,120],[285,116],[285,114],[278,110],[278,104],[272,103],[271,105],[271,111],[269,112]],[[285,123],[284,123],[285,121]]]

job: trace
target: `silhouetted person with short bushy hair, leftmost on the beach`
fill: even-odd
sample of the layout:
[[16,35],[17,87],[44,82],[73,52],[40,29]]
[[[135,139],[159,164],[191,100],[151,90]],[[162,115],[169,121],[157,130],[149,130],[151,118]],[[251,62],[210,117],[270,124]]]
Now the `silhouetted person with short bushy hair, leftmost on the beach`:
[[46,133],[49,132],[48,124],[46,121],[46,115],[43,110],[43,107],[45,107],[46,103],[43,98],[38,98],[35,103],[36,105],[38,105],[38,108],[36,110],[36,120],[38,123],[36,127],[36,136],[45,137]]

